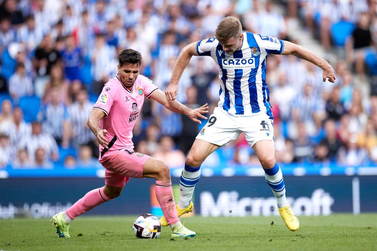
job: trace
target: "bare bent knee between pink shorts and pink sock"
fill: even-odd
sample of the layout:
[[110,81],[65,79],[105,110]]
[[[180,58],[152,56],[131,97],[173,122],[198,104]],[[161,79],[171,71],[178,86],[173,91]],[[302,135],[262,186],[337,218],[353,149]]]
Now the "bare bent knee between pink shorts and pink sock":
[[170,180],[169,166],[164,161],[149,157],[143,166],[143,177]]

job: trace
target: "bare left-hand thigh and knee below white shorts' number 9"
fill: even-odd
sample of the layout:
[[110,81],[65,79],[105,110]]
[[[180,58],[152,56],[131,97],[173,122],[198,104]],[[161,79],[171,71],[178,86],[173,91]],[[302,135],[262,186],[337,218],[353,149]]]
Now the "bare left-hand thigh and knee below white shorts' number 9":
[[186,163],[192,167],[200,166],[203,161],[210,155],[212,152],[219,149],[221,146],[212,144],[210,142],[195,139],[192,148],[190,149],[189,155],[187,155]]

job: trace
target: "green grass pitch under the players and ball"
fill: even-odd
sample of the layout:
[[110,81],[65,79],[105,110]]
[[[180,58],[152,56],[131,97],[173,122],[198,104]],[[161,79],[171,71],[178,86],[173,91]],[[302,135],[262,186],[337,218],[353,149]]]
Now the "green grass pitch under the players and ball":
[[163,227],[152,240],[133,235],[135,218],[81,216],[71,223],[71,238],[58,238],[49,219],[0,220],[0,250],[377,250],[377,214],[300,216],[296,232],[280,216],[196,216],[182,218],[195,238],[172,239]]

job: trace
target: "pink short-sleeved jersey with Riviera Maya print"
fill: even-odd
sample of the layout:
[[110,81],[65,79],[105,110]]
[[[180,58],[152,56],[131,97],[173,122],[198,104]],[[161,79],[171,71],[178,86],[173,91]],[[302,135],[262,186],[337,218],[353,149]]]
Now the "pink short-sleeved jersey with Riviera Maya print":
[[100,158],[120,149],[132,151],[132,129],[139,116],[144,97],[147,99],[157,90],[149,78],[139,75],[132,91],[127,90],[118,78],[110,79],[102,89],[102,93],[93,109],[99,109],[106,115],[100,120],[100,128],[106,129],[105,137],[109,141],[109,149],[100,145]]

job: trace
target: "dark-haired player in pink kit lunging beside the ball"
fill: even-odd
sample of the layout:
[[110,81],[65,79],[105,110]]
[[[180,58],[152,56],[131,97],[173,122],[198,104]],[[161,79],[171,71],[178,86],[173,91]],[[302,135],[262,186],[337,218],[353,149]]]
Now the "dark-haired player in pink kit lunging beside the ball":
[[132,128],[143,106],[144,97],[151,98],[167,109],[187,115],[195,122],[208,113],[207,104],[190,109],[178,101],[168,101],[165,93],[153,81],[139,75],[141,55],[126,49],[119,54],[118,75],[110,79],[93,106],[87,125],[100,143],[99,161],[105,170],[105,186],[88,192],[66,211],[55,214],[51,221],[59,237],[69,237],[69,223],[80,214],[118,197],[132,178],[156,179],[156,198],[172,228],[173,237],[195,237],[196,233],[185,228],[178,219],[166,163],[148,155],[134,152]]

